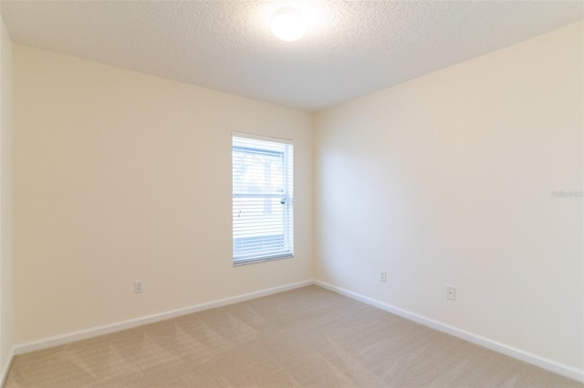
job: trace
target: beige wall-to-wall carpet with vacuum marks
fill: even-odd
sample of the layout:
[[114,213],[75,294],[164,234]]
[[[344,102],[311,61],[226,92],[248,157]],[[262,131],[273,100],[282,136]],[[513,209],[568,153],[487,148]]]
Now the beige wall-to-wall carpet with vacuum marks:
[[310,286],[16,356],[5,387],[581,387]]

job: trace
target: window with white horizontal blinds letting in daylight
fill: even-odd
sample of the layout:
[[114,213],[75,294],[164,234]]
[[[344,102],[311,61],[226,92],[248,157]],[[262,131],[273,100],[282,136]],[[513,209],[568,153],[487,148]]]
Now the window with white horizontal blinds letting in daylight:
[[234,264],[294,256],[293,146],[233,137]]

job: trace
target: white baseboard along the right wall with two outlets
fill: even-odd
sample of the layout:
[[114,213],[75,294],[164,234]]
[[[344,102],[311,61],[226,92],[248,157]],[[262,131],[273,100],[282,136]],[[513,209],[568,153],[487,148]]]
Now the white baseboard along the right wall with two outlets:
[[420,323],[424,326],[428,326],[434,330],[439,332],[445,332],[447,334],[453,335],[454,337],[458,337],[468,342],[473,342],[477,345],[483,346],[487,349],[490,349],[495,352],[500,352],[506,354],[510,357],[513,357],[517,360],[531,363],[532,365],[536,365],[542,369],[546,369],[547,371],[561,374],[562,376],[568,377],[570,379],[576,380],[580,383],[584,383],[584,370],[575,368],[573,366],[566,365],[561,362],[556,362],[540,355],[526,352],[521,349],[514,348],[513,346],[506,345],[502,342],[496,342],[489,338],[483,337],[482,335],[475,334],[473,332],[466,332],[462,329],[459,329],[455,326],[451,326],[449,324],[439,322],[433,320],[431,318],[424,317],[420,314],[416,314],[412,311],[407,311],[400,309],[398,307],[391,306],[390,304],[383,303],[381,301],[376,301],[369,297],[360,295],[357,292],[348,291],[341,289],[337,286],[333,286],[332,284],[325,283],[324,281],[314,281],[314,284],[327,289],[329,291],[337,292],[341,295],[348,296],[351,299],[362,301],[371,306],[375,306],[381,310],[391,312],[392,314],[399,315],[402,318],[407,320]]

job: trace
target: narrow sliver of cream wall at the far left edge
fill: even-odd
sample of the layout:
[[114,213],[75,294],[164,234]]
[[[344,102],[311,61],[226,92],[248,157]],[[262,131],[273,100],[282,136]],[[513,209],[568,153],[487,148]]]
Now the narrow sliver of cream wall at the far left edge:
[[12,353],[12,41],[0,16],[0,383]]

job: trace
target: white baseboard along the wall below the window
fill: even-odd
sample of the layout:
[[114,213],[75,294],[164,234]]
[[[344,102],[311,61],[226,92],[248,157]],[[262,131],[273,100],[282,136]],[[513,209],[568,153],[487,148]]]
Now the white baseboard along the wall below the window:
[[[300,287],[306,287],[311,284],[313,284],[313,281],[299,281],[297,283],[291,283],[284,286],[275,287],[272,289],[254,291],[231,298],[225,298],[217,301],[209,301],[206,303],[196,304],[194,306],[185,307],[183,309],[166,311],[161,312],[159,314],[135,318],[128,321],[115,322],[106,325],[96,326],[89,329],[79,330],[77,332],[68,332],[66,334],[60,334],[32,342],[19,343],[16,344],[13,353],[22,354],[26,352],[34,352],[41,349],[52,348],[53,346],[58,346],[69,342],[87,340],[88,338],[97,337],[103,334],[109,334],[110,332],[120,332],[121,330],[131,329],[133,327],[145,325],[148,323],[160,322],[171,318],[176,318],[182,315],[191,314],[197,311],[209,310],[217,307],[226,306],[229,304],[235,304],[240,301],[249,301],[256,298],[261,298],[263,296],[272,295],[278,292],[294,290]],[[2,384],[0,384],[0,387],[1,386]]]

